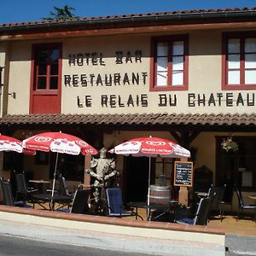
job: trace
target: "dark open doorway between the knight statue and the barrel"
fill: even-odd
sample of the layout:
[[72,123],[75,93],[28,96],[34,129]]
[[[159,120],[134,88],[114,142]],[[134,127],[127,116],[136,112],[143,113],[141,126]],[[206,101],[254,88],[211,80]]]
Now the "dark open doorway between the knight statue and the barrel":
[[148,157],[127,156],[124,158],[123,177],[125,201],[147,201]]

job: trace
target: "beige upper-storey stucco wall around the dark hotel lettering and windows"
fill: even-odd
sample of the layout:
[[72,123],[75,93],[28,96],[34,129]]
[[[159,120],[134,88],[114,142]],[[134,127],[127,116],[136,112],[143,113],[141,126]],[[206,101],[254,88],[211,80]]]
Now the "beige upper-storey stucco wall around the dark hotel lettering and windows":
[[[186,32],[184,32],[186,33]],[[172,32],[170,32],[170,35]],[[32,44],[42,43],[43,41],[23,41],[12,42],[10,55],[10,75],[9,75],[9,92],[16,92],[16,99],[9,97],[8,112],[9,113],[28,113],[29,110],[29,94],[30,94],[30,76],[31,76],[31,54]],[[150,77],[150,35],[127,35],[127,36],[106,36],[106,37],[90,37],[90,38],[59,38],[48,42],[63,43],[63,61],[62,61],[62,113],[253,113],[253,107],[247,107],[245,101],[244,106],[241,104],[236,107],[236,99],[238,93],[246,100],[247,94],[250,98],[253,97],[253,91],[236,90],[222,91],[221,90],[221,51],[222,51],[222,32],[189,32],[189,90],[188,91],[149,91]],[[128,51],[134,55],[136,50],[142,50],[142,63],[135,62],[123,64],[115,63],[115,52],[122,51],[125,55]],[[78,55],[85,53],[102,54],[102,60],[105,66],[92,65],[91,62],[83,66],[69,66],[68,55]],[[140,84],[121,84],[105,86],[90,85],[90,74],[101,74],[104,79],[105,74],[120,73],[121,77],[127,73],[131,79],[131,73],[140,75]],[[147,73],[146,84],[143,84],[142,73]],[[88,86],[78,87],[65,86],[64,75],[73,76],[74,74],[87,76]],[[96,78],[95,78],[96,79]],[[226,93],[233,94],[233,107],[226,107]],[[188,94],[195,94],[195,106],[189,107]],[[214,96],[216,106],[207,101],[209,96]],[[218,93],[223,93],[221,104],[218,104]],[[143,107],[141,102],[137,104],[137,96],[146,95],[148,98],[148,107]],[[159,107],[159,94],[166,96],[177,96],[177,106]],[[124,108],[119,108],[118,99],[116,100],[116,108],[111,108],[101,105],[102,95],[120,96],[121,102],[124,103]],[[134,107],[127,107],[128,96],[134,99]],[[90,96],[91,107],[84,106],[85,96]],[[198,97],[206,97],[206,104],[197,103]],[[80,99],[81,108],[78,106],[78,97]],[[192,103],[193,103],[192,102]],[[190,102],[191,103],[191,102]]]

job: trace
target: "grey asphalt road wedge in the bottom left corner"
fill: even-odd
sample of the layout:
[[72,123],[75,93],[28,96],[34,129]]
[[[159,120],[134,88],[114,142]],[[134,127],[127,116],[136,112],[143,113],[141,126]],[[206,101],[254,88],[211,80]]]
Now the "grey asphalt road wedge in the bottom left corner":
[[93,247],[81,247],[73,245],[63,245],[60,243],[50,243],[46,241],[34,241],[26,238],[0,235],[0,255],[19,255],[19,256],[65,256],[65,255],[90,255],[90,256],[146,256],[142,253],[125,253],[113,250],[103,250]]

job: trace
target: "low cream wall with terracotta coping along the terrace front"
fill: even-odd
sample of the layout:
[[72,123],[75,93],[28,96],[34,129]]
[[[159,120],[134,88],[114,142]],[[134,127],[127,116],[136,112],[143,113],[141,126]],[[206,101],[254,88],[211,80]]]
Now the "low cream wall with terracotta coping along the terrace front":
[[[154,252],[161,255],[170,255],[170,252],[173,255],[198,255],[202,250],[203,255],[224,255],[225,250],[224,230],[210,229],[205,226],[126,220],[6,206],[0,206],[0,220],[23,226],[24,224],[32,225],[34,230],[61,229],[58,232],[62,235],[67,234],[67,230],[73,230],[72,234],[79,234],[81,237],[88,234],[101,234],[94,237],[100,237],[102,246],[105,245],[108,249],[123,248],[125,251]],[[41,233],[38,232],[38,234]],[[34,239],[35,237],[38,238],[41,235],[32,236]],[[63,239],[64,236],[59,237]],[[96,242],[96,245],[90,245],[90,242],[80,245],[100,246],[99,242]]]

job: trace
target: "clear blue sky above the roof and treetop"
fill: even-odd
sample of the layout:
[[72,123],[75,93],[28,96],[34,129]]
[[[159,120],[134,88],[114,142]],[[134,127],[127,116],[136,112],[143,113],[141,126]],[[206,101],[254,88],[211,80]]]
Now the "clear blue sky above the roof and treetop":
[[256,0],[0,0],[0,3],[0,23],[42,20],[54,11],[54,6],[62,8],[66,4],[79,17],[256,7]]

